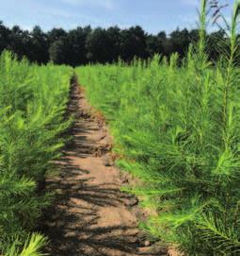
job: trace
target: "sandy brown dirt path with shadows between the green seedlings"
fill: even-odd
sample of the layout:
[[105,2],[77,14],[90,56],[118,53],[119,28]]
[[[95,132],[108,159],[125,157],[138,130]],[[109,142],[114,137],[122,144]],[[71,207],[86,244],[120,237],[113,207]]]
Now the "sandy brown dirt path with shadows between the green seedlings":
[[107,128],[90,115],[76,85],[70,111],[77,113],[73,142],[59,162],[60,176],[47,181],[57,193],[44,228],[51,240],[48,252],[53,256],[167,255],[150,246],[137,229],[133,211],[137,200],[120,192],[120,171],[106,157],[111,145]]

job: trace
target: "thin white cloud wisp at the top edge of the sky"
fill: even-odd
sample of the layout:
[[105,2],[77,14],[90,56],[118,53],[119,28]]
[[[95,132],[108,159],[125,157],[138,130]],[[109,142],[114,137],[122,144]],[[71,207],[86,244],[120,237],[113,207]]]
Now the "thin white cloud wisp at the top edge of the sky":
[[104,9],[114,9],[112,0],[61,0],[63,3],[78,7],[98,7]]

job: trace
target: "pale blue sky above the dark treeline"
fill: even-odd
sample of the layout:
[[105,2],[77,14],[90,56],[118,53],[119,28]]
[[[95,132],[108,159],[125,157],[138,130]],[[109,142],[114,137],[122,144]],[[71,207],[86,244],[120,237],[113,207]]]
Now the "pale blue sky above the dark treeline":
[[177,27],[195,28],[199,6],[200,0],[0,0],[0,21],[24,29],[38,25],[44,31],[53,27],[139,25],[148,33],[170,33]]

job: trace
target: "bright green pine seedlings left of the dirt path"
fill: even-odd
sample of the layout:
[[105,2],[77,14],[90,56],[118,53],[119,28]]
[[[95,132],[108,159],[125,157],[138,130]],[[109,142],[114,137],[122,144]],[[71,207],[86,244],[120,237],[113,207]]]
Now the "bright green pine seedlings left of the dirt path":
[[64,119],[72,69],[0,56],[0,255],[42,255],[35,233],[51,195],[39,189],[70,125]]

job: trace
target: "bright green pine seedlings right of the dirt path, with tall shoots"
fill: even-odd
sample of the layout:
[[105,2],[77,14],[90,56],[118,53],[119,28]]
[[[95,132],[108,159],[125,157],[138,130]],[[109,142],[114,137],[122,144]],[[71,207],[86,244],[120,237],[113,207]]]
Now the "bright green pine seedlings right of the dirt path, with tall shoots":
[[125,190],[158,213],[142,226],[184,255],[232,256],[240,255],[240,2],[217,62],[207,55],[208,4],[182,62],[173,54],[77,72],[108,120],[119,166],[141,180]]

